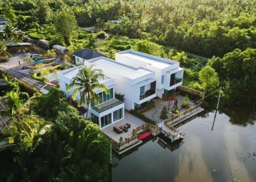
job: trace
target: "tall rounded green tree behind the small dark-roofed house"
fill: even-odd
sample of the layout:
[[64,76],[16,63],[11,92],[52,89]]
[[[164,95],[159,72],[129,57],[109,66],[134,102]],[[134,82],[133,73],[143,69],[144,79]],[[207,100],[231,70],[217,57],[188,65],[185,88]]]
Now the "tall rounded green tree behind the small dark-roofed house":
[[70,39],[77,29],[77,21],[74,15],[61,12],[54,23],[57,32],[64,38],[67,45],[70,45]]

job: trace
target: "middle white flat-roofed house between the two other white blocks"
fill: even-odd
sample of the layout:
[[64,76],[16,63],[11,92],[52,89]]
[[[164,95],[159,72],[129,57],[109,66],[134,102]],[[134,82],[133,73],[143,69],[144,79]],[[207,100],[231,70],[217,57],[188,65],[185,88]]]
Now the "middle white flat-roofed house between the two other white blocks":
[[94,65],[105,75],[115,79],[116,93],[124,95],[126,110],[132,110],[156,97],[155,72],[152,70],[125,65],[104,57],[84,61],[84,65]]

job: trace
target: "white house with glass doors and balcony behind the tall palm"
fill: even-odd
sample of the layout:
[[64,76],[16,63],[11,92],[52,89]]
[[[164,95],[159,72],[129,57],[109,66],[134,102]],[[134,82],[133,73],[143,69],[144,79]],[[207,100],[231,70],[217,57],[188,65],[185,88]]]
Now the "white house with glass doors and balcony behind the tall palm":
[[[74,88],[67,92],[66,87],[72,82],[73,77],[76,76],[79,69],[82,66],[76,66],[70,69],[65,69],[57,72],[57,77],[59,79],[59,88],[63,91],[68,97],[72,96]],[[106,94],[103,90],[95,90],[99,95],[100,101],[99,105],[94,105],[92,103],[91,109],[89,111],[89,116],[91,121],[98,124],[101,128],[108,126],[114,122],[117,122],[124,118],[124,103],[115,98],[115,80],[106,77],[104,80],[99,81],[101,84],[104,84],[108,87],[109,92]],[[77,94],[76,101],[79,100],[80,95]],[[82,106],[87,109],[87,106]]]

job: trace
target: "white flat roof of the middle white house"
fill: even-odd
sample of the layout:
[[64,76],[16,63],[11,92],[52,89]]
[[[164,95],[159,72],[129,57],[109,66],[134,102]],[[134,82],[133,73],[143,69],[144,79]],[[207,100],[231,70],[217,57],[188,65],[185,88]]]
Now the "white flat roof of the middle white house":
[[124,77],[128,77],[129,79],[137,79],[140,76],[146,75],[148,73],[152,73],[151,70],[144,69],[141,67],[135,68],[135,67],[128,66],[120,62],[114,61],[109,58],[99,57],[99,58],[89,60],[89,62],[92,63],[93,65],[96,65],[99,69],[102,69],[102,70],[108,69],[111,72],[122,75]]

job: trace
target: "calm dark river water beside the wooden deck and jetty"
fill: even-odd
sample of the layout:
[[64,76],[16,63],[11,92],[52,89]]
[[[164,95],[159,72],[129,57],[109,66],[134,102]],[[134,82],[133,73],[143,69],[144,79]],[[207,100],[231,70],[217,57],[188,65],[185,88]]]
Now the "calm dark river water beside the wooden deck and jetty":
[[[201,113],[179,127],[182,141],[164,136],[116,157],[113,181],[256,181],[256,111],[230,107]],[[161,144],[161,145],[160,145]]]

